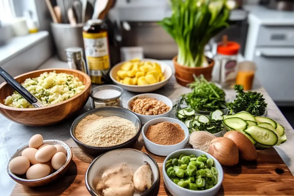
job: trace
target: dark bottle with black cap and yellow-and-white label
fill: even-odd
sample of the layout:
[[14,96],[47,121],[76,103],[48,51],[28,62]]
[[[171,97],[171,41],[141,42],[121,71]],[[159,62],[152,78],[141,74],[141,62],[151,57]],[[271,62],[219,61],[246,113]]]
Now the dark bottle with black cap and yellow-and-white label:
[[110,68],[107,25],[100,19],[88,20],[83,27],[83,38],[91,81],[105,84]]

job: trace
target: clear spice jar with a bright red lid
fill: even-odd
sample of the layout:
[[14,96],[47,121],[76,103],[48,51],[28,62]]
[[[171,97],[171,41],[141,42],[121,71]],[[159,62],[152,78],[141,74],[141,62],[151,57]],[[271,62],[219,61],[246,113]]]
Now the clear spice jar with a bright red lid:
[[216,81],[223,88],[233,88],[237,75],[237,60],[240,44],[234,41],[223,41],[218,44],[217,54],[215,56],[216,70],[218,79]]

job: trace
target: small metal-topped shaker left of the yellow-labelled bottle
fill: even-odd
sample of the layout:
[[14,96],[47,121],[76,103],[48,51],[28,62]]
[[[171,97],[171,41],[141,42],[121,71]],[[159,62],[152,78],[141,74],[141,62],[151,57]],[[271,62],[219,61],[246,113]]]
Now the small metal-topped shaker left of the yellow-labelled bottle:
[[71,69],[77,69],[86,74],[89,73],[86,62],[83,58],[83,48],[71,47],[66,48],[67,64]]

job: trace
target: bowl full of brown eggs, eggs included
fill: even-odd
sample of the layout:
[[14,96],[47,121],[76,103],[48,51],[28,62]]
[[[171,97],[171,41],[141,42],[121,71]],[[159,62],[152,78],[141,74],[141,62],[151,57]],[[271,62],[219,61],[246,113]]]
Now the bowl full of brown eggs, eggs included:
[[42,135],[37,134],[12,155],[7,172],[19,184],[42,186],[63,175],[71,160],[69,145],[61,140],[43,140]]

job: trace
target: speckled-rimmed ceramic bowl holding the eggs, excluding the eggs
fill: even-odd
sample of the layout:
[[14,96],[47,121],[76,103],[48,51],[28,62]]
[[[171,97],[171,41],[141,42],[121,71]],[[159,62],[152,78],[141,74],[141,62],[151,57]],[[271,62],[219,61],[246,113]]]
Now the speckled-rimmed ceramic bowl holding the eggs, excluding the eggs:
[[[69,145],[67,145],[65,142],[63,142],[61,140],[44,140],[43,144],[49,144],[49,145],[60,144],[60,145],[62,145],[66,150],[66,162],[64,163],[64,165],[59,170],[55,171],[54,173],[52,173],[46,177],[42,177],[42,178],[34,179],[34,180],[27,180],[25,178],[22,178],[25,175],[21,175],[21,177],[20,177],[20,175],[15,175],[14,173],[12,173],[9,170],[9,167],[7,165],[7,172],[8,172],[8,175],[12,178],[12,180],[14,180],[15,182],[17,182],[19,184],[28,186],[28,187],[37,187],[37,186],[43,186],[43,185],[49,184],[50,182],[53,182],[54,180],[56,180],[58,177],[62,176],[66,172],[66,170],[69,168],[70,162],[73,157],[73,153],[72,153],[72,150],[69,147]],[[21,156],[22,151],[26,148],[29,148],[29,144],[26,144],[23,147],[16,150],[16,152],[12,155],[9,162],[13,158]]]

